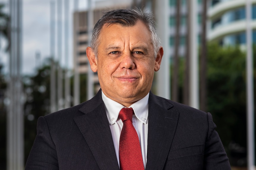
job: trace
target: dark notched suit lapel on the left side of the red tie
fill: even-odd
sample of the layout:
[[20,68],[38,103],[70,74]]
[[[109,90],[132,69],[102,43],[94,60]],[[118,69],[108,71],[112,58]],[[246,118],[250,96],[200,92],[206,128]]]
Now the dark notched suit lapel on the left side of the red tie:
[[101,98],[101,90],[79,109],[85,115],[74,120],[101,170],[119,170],[113,139]]

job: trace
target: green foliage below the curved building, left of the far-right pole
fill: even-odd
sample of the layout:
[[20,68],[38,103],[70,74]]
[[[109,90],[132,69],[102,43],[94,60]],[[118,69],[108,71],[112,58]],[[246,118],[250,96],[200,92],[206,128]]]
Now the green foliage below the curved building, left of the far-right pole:
[[238,47],[208,46],[208,111],[225,147],[246,146],[245,54]]

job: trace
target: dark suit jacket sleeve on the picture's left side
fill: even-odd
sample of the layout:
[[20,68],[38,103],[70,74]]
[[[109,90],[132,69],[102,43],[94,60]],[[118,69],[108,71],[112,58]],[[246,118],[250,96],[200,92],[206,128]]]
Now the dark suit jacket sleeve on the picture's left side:
[[30,151],[25,170],[57,170],[58,158],[44,117],[37,122],[37,136]]

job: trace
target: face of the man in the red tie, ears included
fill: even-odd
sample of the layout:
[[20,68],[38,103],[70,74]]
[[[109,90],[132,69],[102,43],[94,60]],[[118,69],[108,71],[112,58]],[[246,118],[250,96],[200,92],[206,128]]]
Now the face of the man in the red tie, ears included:
[[92,71],[98,71],[103,93],[128,107],[145,97],[151,89],[154,71],[158,71],[163,55],[157,59],[150,33],[138,21],[132,27],[104,25],[99,35],[98,55],[87,49]]

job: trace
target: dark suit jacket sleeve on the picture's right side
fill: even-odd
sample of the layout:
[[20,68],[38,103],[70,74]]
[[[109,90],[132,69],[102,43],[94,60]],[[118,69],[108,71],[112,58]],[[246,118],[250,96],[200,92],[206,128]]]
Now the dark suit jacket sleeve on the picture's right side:
[[227,158],[227,154],[224,150],[222,142],[218,133],[215,131],[216,125],[212,120],[210,113],[207,113],[208,117],[208,135],[205,143],[204,151],[204,169],[225,169],[231,170],[230,163]]

